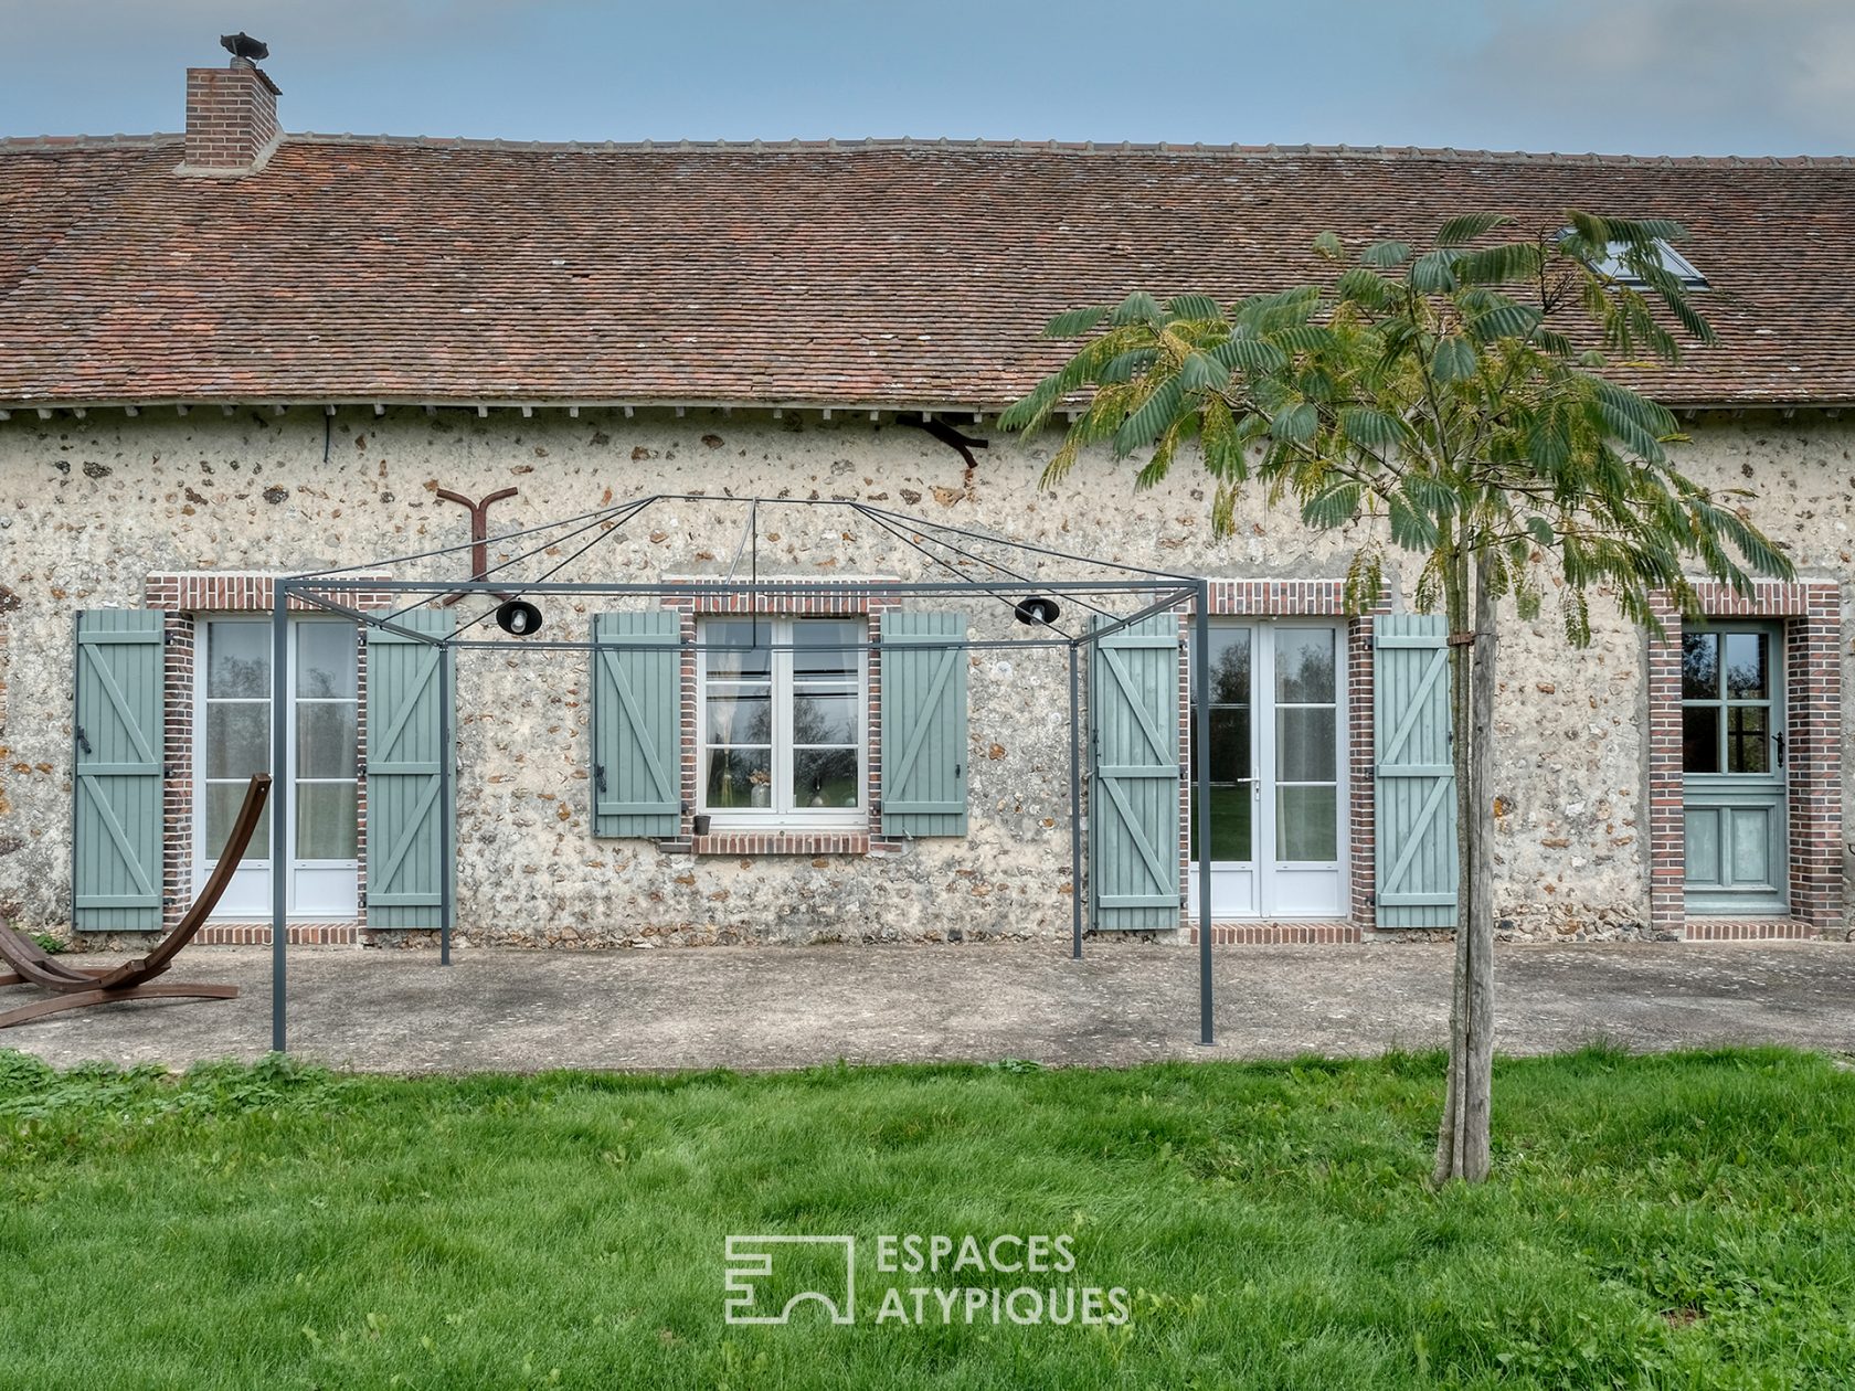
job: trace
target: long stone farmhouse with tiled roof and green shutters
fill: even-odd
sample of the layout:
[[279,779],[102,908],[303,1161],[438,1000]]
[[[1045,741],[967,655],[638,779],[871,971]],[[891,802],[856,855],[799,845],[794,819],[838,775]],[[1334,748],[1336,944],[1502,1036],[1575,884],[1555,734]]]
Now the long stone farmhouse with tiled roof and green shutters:
[[[1510,616],[1501,931],[1846,935],[1848,160],[299,135],[245,59],[186,74],[184,134],[0,141],[0,912],[115,942],[171,924],[286,721],[293,857],[254,842],[202,940],[265,940],[273,875],[295,938],[417,940],[445,874],[477,942],[1057,937],[1078,894],[1093,927],[1187,940],[1189,625],[1143,629],[1137,690],[1089,673],[1089,859],[1146,875],[1107,892],[1070,851],[1063,658],[890,671],[883,581],[935,573],[907,527],[768,504],[749,582],[740,510],[705,499],[762,497],[1208,577],[1219,935],[1441,927],[1441,636],[1414,577],[1349,614],[1356,538],[1254,501],[1217,540],[1189,460],[1135,491],[1104,454],[1046,490],[1055,438],[996,419],[1059,360],[1059,310],[1278,287],[1323,230],[1421,239],[1482,208],[1690,226],[1670,265],[1720,345],[1631,371],[1799,571],[1655,642],[1603,601],[1586,651],[1551,603]],[[584,651],[460,662],[445,844],[430,798],[382,790],[436,768],[429,688],[304,606],[275,708],[273,582],[467,543],[497,493],[492,538],[664,495],[586,564],[738,592],[657,603],[662,658],[631,679]],[[1009,640],[1009,601],[1059,569],[935,621]],[[581,638],[607,610],[544,608]],[[1113,699],[1163,747],[1145,810],[1100,755]],[[903,770],[911,742],[933,753]]]

